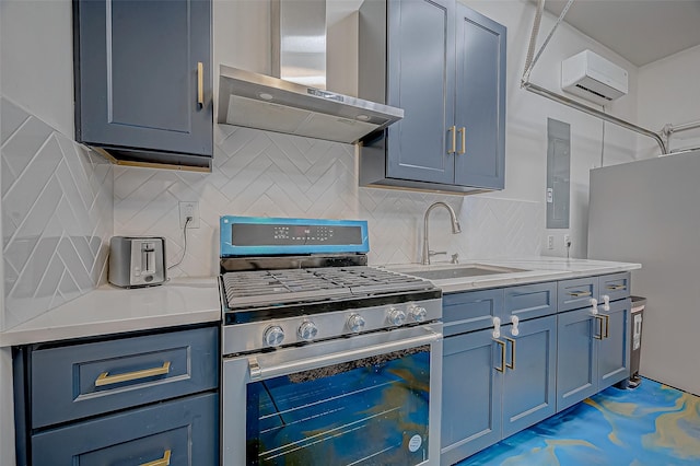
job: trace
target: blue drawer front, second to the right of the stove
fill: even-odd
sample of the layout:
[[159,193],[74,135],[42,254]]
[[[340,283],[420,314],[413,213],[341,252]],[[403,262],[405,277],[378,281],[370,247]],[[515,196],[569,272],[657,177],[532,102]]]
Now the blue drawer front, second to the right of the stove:
[[504,317],[521,321],[557,313],[557,283],[536,283],[505,289]]

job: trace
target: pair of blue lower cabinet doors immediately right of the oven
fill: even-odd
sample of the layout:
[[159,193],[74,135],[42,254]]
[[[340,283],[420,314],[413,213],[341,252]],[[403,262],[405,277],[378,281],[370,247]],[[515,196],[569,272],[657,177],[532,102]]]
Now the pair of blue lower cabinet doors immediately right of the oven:
[[441,464],[555,413],[556,348],[555,315],[445,338]]

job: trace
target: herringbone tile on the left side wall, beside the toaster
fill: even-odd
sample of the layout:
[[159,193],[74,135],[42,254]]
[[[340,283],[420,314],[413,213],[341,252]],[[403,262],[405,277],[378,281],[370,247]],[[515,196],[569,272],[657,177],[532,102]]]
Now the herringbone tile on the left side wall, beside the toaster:
[[5,328],[106,280],[113,167],[2,98]]

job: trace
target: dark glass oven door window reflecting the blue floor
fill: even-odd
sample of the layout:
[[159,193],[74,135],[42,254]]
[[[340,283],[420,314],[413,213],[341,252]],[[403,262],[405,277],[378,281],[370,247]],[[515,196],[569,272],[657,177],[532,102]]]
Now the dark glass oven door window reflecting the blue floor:
[[247,464],[417,465],[429,389],[429,346],[250,383]]

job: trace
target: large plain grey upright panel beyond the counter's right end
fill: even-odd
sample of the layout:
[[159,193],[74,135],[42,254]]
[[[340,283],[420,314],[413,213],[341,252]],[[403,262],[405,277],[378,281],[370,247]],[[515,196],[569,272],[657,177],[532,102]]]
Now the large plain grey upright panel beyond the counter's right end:
[[640,263],[640,374],[700,395],[700,151],[591,171],[588,258]]

